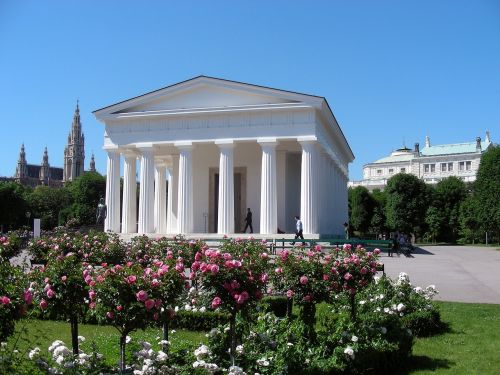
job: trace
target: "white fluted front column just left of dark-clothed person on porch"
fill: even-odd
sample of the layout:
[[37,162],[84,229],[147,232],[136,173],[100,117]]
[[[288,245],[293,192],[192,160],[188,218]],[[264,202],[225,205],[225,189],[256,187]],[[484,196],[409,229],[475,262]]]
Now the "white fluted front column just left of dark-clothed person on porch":
[[216,141],[219,146],[219,207],[217,233],[234,233],[234,170],[232,140]]

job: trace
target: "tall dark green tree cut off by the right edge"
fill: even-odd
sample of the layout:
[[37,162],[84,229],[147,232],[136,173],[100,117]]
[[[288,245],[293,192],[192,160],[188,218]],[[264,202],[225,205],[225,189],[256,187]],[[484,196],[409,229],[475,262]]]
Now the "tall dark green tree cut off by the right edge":
[[481,158],[473,197],[476,220],[483,231],[500,231],[500,147],[491,147]]

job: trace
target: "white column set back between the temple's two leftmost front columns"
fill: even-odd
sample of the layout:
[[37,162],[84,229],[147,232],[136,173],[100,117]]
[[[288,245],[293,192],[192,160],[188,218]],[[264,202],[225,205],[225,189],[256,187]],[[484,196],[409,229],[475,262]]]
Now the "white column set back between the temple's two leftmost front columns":
[[123,164],[122,233],[137,232],[137,155],[125,153]]

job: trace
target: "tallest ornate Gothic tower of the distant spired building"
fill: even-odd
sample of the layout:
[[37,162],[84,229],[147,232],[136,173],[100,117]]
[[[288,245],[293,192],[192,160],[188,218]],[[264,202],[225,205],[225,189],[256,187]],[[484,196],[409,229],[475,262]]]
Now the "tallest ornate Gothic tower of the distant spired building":
[[72,181],[83,174],[85,161],[85,136],[80,122],[80,108],[76,102],[68,145],[64,149],[63,181]]

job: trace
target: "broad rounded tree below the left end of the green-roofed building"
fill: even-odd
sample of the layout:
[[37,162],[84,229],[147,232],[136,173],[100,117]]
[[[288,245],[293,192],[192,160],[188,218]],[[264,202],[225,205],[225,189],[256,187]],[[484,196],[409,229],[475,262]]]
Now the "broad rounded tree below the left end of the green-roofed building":
[[392,230],[421,234],[431,192],[412,174],[399,173],[389,179],[385,214]]

